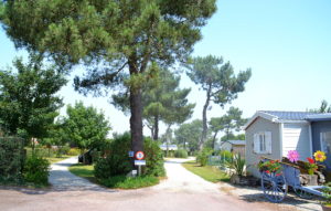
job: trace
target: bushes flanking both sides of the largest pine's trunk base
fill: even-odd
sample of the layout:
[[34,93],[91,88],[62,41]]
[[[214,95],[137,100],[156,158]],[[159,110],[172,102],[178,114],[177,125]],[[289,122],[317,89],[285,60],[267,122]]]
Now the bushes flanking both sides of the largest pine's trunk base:
[[[107,147],[108,155],[100,158],[95,165],[95,177],[97,179],[108,179],[114,176],[127,175],[132,170],[128,151],[131,148],[131,137],[128,133],[115,137]],[[142,168],[143,175],[164,176],[163,156],[158,143],[150,138],[145,139],[146,167]]]

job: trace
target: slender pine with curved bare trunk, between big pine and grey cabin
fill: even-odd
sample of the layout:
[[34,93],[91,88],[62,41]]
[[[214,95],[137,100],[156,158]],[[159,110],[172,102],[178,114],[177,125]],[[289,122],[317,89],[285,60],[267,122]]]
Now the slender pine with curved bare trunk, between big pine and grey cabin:
[[207,55],[193,57],[186,65],[189,77],[205,92],[206,98],[202,112],[203,130],[200,140],[202,148],[207,133],[206,112],[210,103],[224,106],[237,98],[238,93],[244,92],[246,82],[250,78],[250,70],[234,73],[229,62],[224,63],[222,57]]

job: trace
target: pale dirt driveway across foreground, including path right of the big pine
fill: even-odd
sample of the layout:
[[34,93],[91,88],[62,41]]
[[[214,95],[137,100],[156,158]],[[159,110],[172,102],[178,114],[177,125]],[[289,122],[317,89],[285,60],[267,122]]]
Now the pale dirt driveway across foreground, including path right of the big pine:
[[[249,202],[221,191],[218,184],[210,183],[189,172],[180,160],[167,161],[168,179],[160,184],[140,190],[110,190],[94,186],[72,189],[28,190],[0,189],[1,211],[242,211],[279,210],[270,203]],[[65,166],[65,165],[64,165]],[[70,182],[66,180],[65,182]],[[284,210],[284,209],[281,209]]]

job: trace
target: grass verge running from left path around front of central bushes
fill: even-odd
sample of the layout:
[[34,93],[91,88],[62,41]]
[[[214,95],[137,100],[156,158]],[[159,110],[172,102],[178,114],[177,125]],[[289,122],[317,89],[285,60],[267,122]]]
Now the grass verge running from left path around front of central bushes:
[[94,177],[94,166],[90,165],[78,163],[71,166],[68,169],[75,176],[85,178],[90,182],[98,183],[107,188],[138,189],[159,183],[159,178],[152,176],[142,176],[136,178],[129,178],[126,176],[114,176],[108,179],[97,180]]

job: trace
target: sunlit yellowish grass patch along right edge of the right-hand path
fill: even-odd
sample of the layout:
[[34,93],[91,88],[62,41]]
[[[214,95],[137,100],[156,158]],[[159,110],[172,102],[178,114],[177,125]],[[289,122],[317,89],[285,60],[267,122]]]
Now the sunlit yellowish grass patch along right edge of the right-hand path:
[[196,163],[195,161],[188,161],[182,163],[182,166],[189,171],[214,183],[218,181],[229,181],[229,176],[227,176],[225,172],[221,171],[218,168],[215,167],[211,167],[211,166],[202,167],[200,166],[200,163]]

